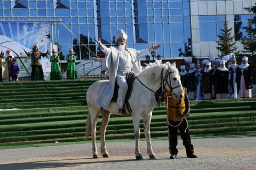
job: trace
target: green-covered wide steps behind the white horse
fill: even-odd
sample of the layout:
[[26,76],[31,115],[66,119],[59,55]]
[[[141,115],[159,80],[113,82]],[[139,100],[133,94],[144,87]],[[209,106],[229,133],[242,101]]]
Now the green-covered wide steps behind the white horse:
[[[90,142],[85,138],[88,107],[86,91],[95,80],[0,83],[0,148]],[[98,119],[97,130],[101,122]],[[191,137],[256,135],[256,99],[191,101]],[[143,140],[143,120],[141,119]],[[97,131],[97,139],[99,137]],[[166,106],[156,107],[151,137],[167,139]],[[133,139],[131,117],[112,115],[106,139]]]

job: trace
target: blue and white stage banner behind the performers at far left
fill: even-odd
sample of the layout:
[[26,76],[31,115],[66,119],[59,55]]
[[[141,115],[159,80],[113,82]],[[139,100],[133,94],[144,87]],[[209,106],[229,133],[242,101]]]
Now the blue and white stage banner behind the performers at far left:
[[[2,22],[0,23],[0,51],[6,53],[10,49],[17,59],[20,67],[19,77],[31,74],[31,59],[27,58],[23,49],[27,52],[32,50],[33,45],[39,45],[39,50],[50,52],[50,29],[47,23],[22,23],[22,22]],[[46,78],[51,71],[49,56],[42,57],[44,75]]]

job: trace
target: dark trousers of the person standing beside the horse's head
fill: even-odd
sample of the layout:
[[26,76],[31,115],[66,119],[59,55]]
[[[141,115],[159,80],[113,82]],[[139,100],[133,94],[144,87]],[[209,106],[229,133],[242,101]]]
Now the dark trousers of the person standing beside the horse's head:
[[[169,121],[171,125],[178,125],[180,122],[175,121]],[[169,151],[170,154],[177,155],[177,129],[179,128],[180,136],[183,141],[183,145],[186,148],[187,156],[190,156],[194,152],[194,147],[191,143],[190,135],[189,135],[189,129],[187,128],[187,121],[185,118],[181,122],[181,124],[177,127],[173,127],[168,124],[168,131],[169,131]],[[187,130],[184,132],[184,130],[187,128]]]

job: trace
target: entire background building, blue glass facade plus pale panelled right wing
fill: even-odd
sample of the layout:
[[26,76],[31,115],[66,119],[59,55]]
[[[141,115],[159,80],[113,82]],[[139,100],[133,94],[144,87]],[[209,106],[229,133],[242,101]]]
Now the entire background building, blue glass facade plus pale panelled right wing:
[[[64,59],[73,48],[77,59],[100,56],[95,39],[113,45],[118,29],[127,35],[127,45],[137,50],[152,42],[164,59],[219,54],[217,34],[225,19],[233,35],[244,32],[235,24],[246,25],[253,17],[244,7],[255,0],[2,0],[1,22],[45,22],[49,36]],[[2,28],[6,29],[6,28]],[[1,31],[1,29],[0,29]],[[9,30],[10,31],[10,30]],[[8,31],[5,31],[5,33]],[[3,31],[0,32],[3,34]],[[241,37],[236,35],[236,40]],[[239,46],[239,43],[238,43]]]

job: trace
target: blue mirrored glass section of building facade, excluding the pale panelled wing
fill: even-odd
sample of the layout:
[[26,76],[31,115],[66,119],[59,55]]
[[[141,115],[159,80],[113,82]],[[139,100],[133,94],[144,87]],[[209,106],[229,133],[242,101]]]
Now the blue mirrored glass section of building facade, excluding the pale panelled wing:
[[[164,58],[191,56],[191,23],[188,0],[37,0],[2,1],[2,22],[7,18],[37,18],[51,24],[51,41],[67,55],[73,48],[78,59],[101,54],[95,39],[113,45],[118,29],[127,35],[130,48],[162,45]],[[60,21],[51,22],[49,18]]]

